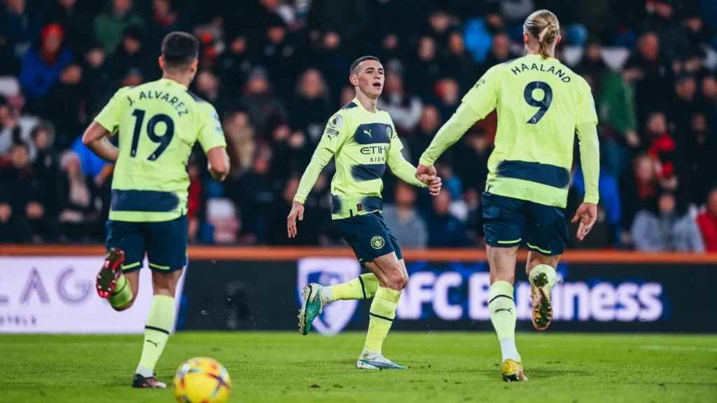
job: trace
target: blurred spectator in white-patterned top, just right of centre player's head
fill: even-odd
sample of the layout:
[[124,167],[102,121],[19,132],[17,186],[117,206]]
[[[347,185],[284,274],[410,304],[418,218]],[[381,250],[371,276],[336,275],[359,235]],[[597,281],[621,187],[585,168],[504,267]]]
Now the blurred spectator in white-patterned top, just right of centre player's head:
[[391,115],[397,131],[412,131],[421,118],[423,108],[421,98],[405,89],[402,75],[394,70],[386,72],[384,87],[384,93],[379,98],[377,107]]

